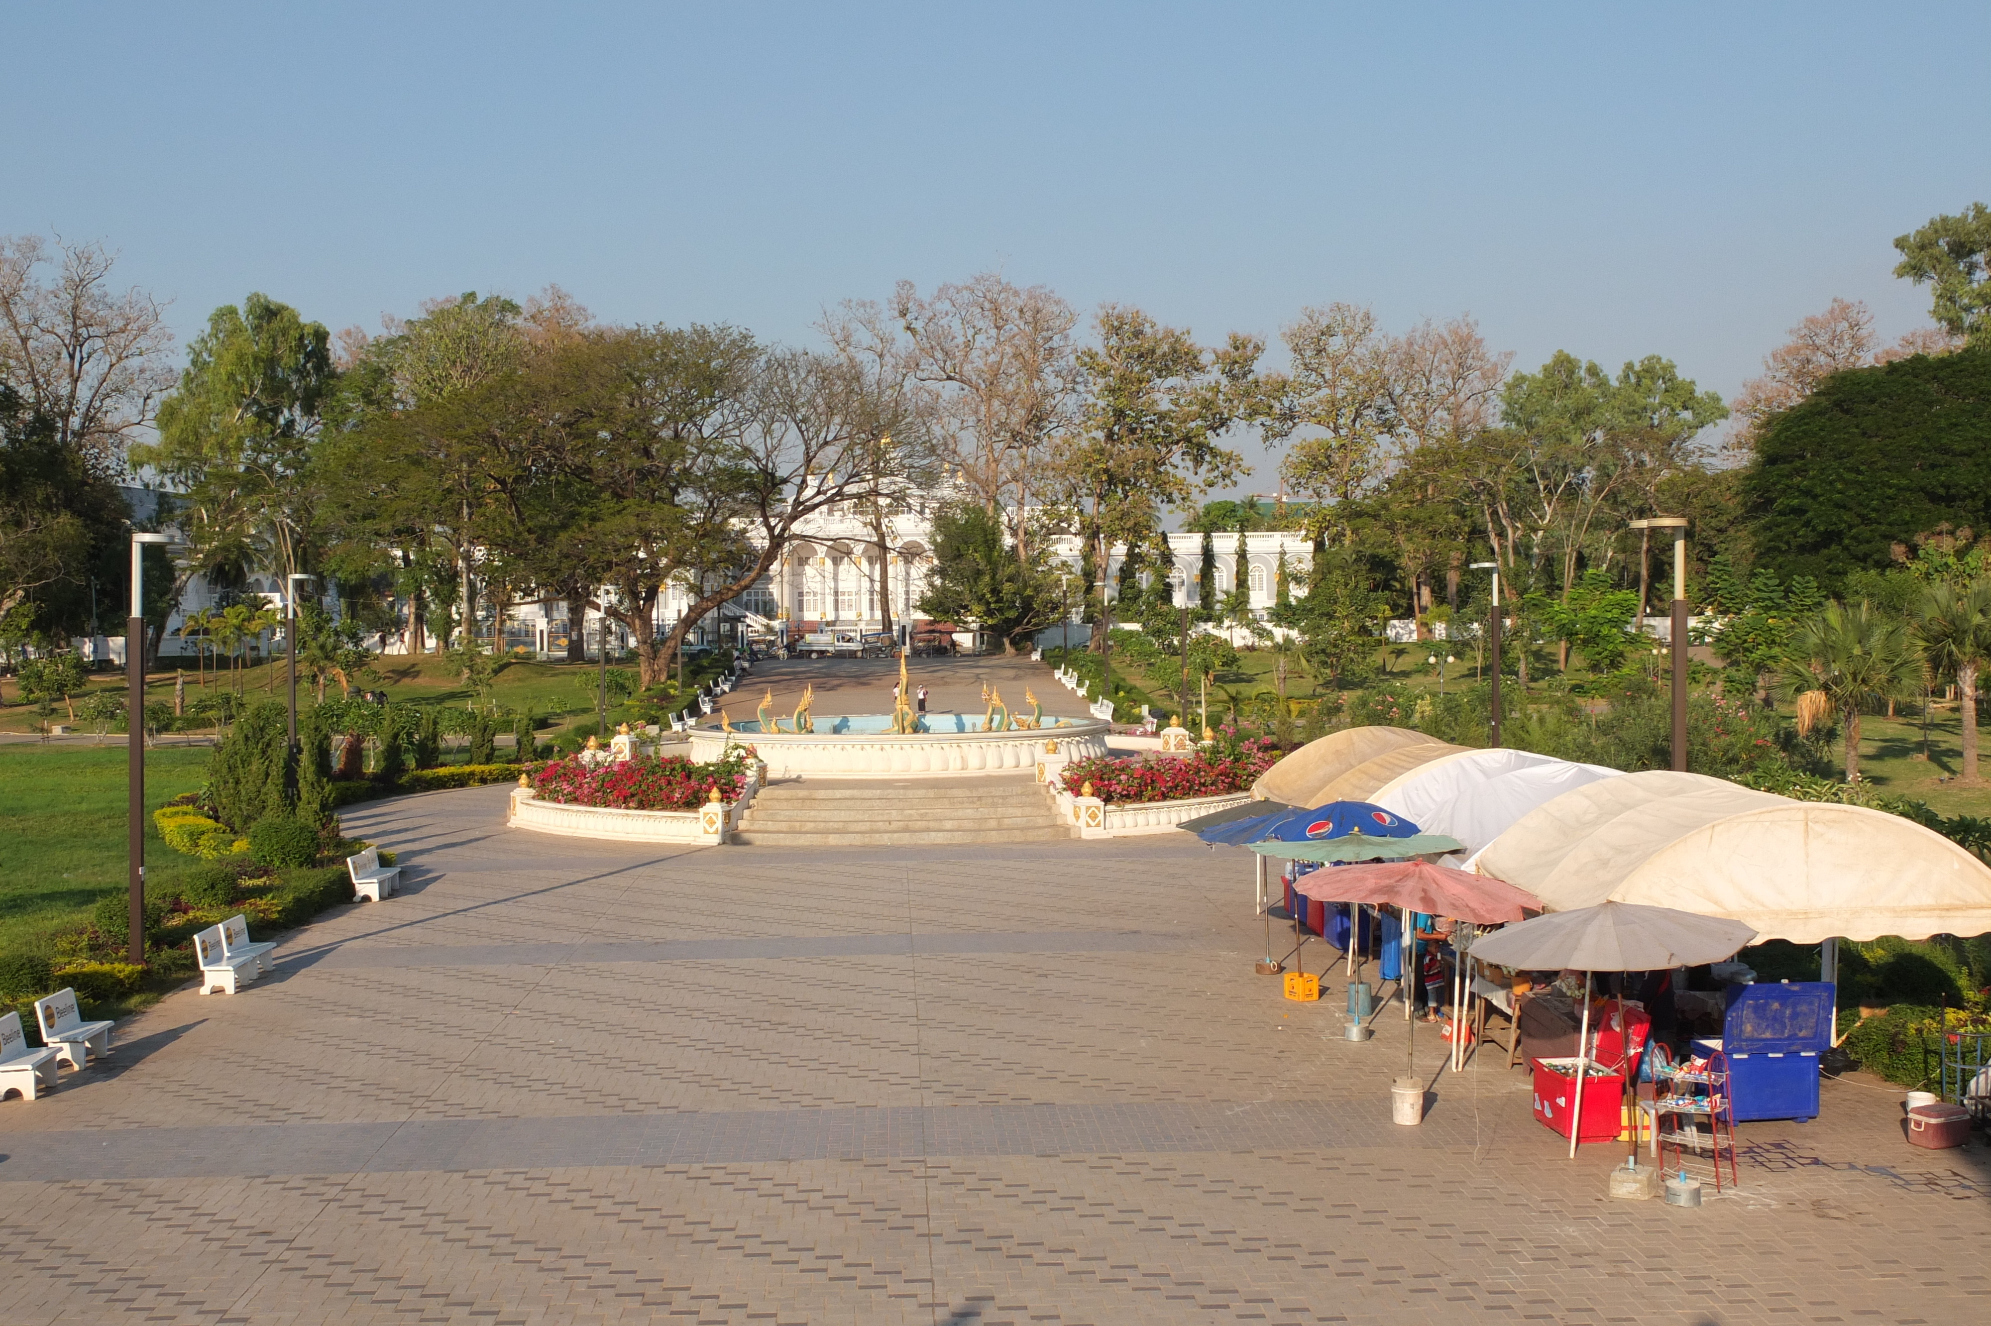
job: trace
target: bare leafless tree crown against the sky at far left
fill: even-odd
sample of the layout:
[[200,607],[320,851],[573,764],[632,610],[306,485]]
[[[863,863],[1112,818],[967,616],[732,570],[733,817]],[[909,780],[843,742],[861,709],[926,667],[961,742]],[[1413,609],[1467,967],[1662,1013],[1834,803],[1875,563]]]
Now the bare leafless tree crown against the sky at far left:
[[98,243],[0,237],[0,380],[54,420],[62,446],[108,468],[177,378],[159,303],[111,289],[115,261]]

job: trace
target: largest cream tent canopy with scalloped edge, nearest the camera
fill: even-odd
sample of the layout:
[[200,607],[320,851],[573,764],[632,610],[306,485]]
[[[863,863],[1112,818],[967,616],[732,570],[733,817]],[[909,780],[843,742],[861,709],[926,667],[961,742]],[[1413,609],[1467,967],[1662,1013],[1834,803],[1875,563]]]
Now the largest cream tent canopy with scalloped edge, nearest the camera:
[[1521,816],[1471,866],[1551,912],[1635,902],[1726,916],[1794,944],[1991,934],[1991,868],[1941,834],[1690,773],[1577,786]]

